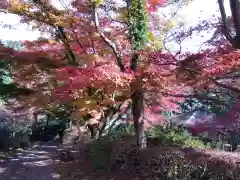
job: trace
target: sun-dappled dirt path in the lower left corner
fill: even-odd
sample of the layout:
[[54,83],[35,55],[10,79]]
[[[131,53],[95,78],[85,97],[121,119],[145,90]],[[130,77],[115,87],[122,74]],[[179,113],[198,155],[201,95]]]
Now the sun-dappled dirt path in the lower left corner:
[[48,142],[23,150],[17,157],[0,162],[0,180],[56,180],[52,156],[61,150],[57,142]]

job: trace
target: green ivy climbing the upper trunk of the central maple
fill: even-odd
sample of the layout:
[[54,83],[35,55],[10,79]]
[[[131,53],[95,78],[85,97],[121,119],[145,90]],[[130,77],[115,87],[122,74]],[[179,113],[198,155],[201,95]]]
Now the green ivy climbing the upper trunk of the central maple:
[[133,48],[144,49],[149,36],[145,0],[132,0],[129,10],[129,31]]

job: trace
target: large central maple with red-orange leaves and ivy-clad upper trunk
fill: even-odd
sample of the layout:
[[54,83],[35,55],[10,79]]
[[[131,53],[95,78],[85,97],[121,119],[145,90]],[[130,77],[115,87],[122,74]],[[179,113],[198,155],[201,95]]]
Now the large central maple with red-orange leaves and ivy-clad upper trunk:
[[[35,90],[18,100],[38,109],[67,104],[75,119],[93,110],[104,119],[109,109],[131,103],[141,147],[146,145],[147,125],[164,121],[156,115],[159,111],[178,111],[177,102],[198,97],[197,91],[226,86],[216,79],[239,68],[238,50],[227,45],[181,56],[149,48],[154,32],[149,32],[149,9],[143,0],[123,6],[76,0],[64,10],[48,1],[19,0],[8,8],[23,22],[34,22],[34,28],[51,34],[50,39],[26,41],[22,51],[1,46],[0,57],[11,60],[14,81]],[[122,16],[125,12],[125,21],[114,19],[104,8]],[[179,33],[183,36],[188,34]]]

